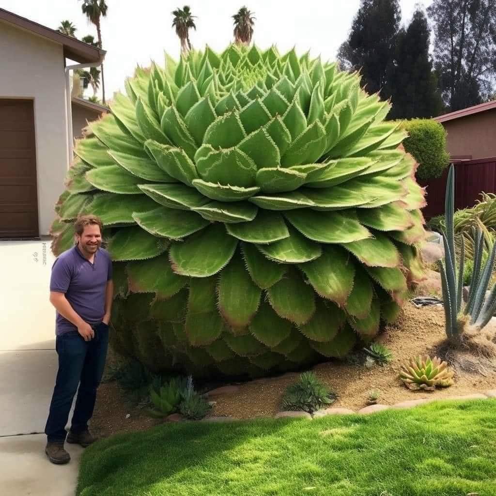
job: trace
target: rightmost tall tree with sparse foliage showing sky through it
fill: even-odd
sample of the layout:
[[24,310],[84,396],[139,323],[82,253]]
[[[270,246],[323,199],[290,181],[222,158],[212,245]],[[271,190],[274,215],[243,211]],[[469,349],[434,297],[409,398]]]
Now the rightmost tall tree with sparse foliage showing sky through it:
[[434,0],[434,67],[451,111],[477,105],[494,91],[496,0]]

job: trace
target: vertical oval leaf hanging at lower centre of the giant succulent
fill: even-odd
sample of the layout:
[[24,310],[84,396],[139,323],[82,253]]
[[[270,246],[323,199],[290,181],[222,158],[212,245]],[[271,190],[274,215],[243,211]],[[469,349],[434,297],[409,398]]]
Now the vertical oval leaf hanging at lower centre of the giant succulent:
[[218,294],[219,310],[227,323],[246,327],[258,309],[261,290],[251,280],[240,254],[222,270]]

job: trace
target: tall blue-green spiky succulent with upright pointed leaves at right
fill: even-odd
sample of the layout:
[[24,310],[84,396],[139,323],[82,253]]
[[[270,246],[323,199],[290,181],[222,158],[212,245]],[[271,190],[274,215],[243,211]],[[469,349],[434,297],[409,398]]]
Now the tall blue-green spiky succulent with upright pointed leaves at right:
[[453,227],[454,191],[455,174],[454,167],[451,166],[448,172],[448,182],[446,186],[446,230],[443,232],[444,262],[439,262],[444,313],[446,317],[446,334],[449,338],[461,337],[468,326],[473,330],[482,329],[491,320],[491,317],[496,311],[496,285],[491,290],[488,298],[485,298],[493,271],[496,245],[493,245],[491,248],[486,264],[484,265],[484,268],[482,268],[484,240],[482,231],[479,228],[473,228],[473,238],[475,240],[474,270],[472,273],[472,283],[470,285],[467,303],[464,308],[462,308],[463,266],[465,255],[462,236],[460,262],[457,268]]

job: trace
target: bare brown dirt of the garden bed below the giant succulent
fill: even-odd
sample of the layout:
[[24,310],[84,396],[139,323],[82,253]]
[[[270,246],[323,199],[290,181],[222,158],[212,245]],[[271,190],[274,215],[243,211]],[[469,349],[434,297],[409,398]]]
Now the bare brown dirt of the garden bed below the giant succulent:
[[[470,394],[496,388],[496,377],[457,373],[451,387],[435,392],[410,391],[398,379],[401,364],[419,354],[434,355],[433,350],[444,340],[444,311],[441,307],[416,308],[407,303],[398,321],[377,338],[392,352],[390,364],[367,369],[338,361],[319,364],[315,374],[338,395],[333,407],[358,410],[367,406],[368,392],[378,389],[378,403],[393,404],[409,399]],[[216,405],[210,415],[238,419],[272,417],[280,410],[282,394],[298,374],[264,378],[239,384],[238,392],[212,397]],[[126,419],[126,415],[130,416]],[[160,421],[146,416],[142,409],[132,406],[117,382],[102,384],[99,389],[92,429],[100,435],[143,430]]]

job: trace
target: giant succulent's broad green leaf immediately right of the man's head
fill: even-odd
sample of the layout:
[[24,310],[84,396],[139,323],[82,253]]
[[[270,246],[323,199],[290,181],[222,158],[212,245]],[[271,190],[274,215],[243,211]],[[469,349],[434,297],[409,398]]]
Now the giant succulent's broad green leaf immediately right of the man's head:
[[126,227],[109,241],[108,251],[114,261],[145,260],[163,253],[168,243],[143,231],[140,227]]

